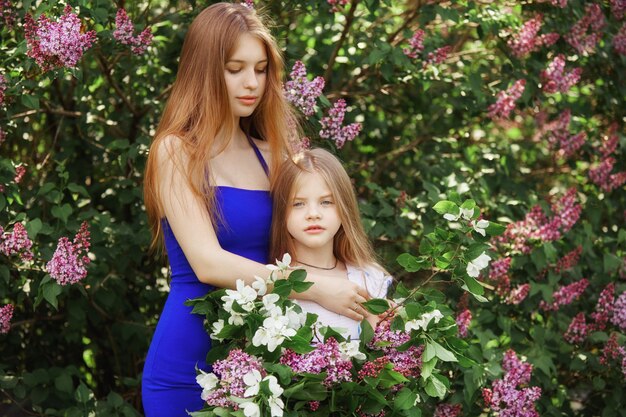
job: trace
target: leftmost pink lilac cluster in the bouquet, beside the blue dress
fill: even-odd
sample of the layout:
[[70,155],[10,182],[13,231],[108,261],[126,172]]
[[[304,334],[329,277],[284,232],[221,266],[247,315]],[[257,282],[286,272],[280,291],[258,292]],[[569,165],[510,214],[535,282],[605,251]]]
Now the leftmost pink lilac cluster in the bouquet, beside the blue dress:
[[231,350],[226,359],[213,364],[213,373],[219,378],[219,388],[208,394],[206,403],[214,407],[232,407],[237,410],[237,403],[230,397],[243,398],[247,388],[243,378],[252,371],[258,371],[262,377],[267,375],[259,359],[241,349]]

